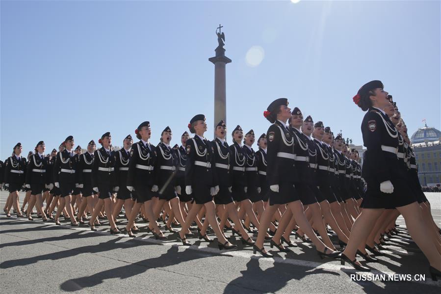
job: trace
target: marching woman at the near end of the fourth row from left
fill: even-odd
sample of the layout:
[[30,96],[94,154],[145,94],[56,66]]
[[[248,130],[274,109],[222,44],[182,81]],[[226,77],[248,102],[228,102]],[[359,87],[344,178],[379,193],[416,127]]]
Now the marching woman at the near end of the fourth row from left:
[[104,206],[105,214],[109,220],[110,234],[119,234],[121,232],[116,227],[112,214],[112,191],[118,190],[118,186],[115,182],[115,158],[110,151],[111,141],[110,132],[104,133],[98,141],[103,147],[94,153],[92,187],[98,193],[98,202],[93,209],[92,217],[89,219],[89,226],[92,231],[95,230],[94,222]]

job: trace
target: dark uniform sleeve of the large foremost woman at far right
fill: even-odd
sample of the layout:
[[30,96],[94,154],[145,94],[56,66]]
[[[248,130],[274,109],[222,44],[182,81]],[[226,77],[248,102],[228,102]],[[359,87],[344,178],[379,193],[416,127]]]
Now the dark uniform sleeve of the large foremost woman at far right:
[[385,159],[381,150],[381,132],[383,121],[375,111],[366,113],[362,123],[364,146],[367,148],[368,163],[363,177],[375,177],[380,183],[390,180],[389,169],[384,164]]

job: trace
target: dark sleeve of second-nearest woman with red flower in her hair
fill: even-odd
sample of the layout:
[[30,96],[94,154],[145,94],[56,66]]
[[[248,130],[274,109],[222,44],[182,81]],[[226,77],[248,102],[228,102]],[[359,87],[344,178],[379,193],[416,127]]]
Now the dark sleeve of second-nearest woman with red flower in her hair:
[[[279,170],[278,170],[278,157],[281,134],[277,125],[271,125],[266,133],[267,139],[267,151],[266,151],[266,179],[268,185],[279,185]],[[271,139],[272,138],[272,139]]]

